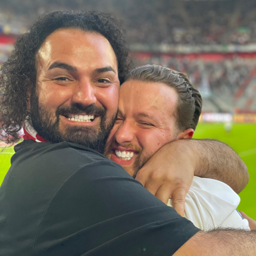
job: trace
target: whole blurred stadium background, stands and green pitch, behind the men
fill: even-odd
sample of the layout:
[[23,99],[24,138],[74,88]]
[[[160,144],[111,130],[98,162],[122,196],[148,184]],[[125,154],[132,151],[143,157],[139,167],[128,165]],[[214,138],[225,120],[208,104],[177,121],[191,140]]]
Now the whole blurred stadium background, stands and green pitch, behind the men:
[[[250,180],[239,210],[256,219],[256,1],[0,0],[0,65],[39,15],[57,10],[110,13],[123,23],[136,66],[189,75],[204,99],[195,138],[226,142],[245,161]],[[0,153],[0,184],[13,152]]]

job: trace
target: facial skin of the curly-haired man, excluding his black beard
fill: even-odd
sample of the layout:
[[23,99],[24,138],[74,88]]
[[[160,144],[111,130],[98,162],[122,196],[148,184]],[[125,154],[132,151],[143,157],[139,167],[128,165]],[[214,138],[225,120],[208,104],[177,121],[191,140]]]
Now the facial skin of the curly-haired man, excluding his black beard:
[[[104,36],[79,29],[55,30],[40,47],[37,60],[36,93],[52,121],[56,121],[57,108],[75,104],[105,108],[107,120],[116,114],[120,87],[117,60]],[[100,117],[87,123],[70,121],[68,114],[60,115],[61,133],[71,126],[99,129]]]

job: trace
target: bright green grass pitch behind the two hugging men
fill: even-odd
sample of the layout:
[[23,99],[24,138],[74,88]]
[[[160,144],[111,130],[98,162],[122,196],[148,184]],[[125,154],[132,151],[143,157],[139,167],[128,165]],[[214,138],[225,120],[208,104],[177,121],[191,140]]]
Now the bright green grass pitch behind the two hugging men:
[[[249,170],[249,183],[239,194],[241,204],[238,210],[244,211],[256,220],[256,125],[233,124],[230,134],[223,129],[223,124],[198,124],[194,138],[218,139],[230,145],[246,163]],[[1,151],[1,148],[0,148]],[[10,167],[13,148],[6,148],[0,153],[0,184]]]

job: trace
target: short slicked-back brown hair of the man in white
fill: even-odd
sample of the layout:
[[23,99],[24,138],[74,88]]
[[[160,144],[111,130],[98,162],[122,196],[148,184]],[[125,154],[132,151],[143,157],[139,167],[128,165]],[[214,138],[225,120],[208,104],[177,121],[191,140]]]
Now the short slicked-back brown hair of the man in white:
[[195,130],[202,110],[202,97],[186,74],[160,65],[144,65],[130,71],[126,76],[127,80],[165,83],[176,90],[178,95],[175,111],[177,129],[180,131],[189,128]]

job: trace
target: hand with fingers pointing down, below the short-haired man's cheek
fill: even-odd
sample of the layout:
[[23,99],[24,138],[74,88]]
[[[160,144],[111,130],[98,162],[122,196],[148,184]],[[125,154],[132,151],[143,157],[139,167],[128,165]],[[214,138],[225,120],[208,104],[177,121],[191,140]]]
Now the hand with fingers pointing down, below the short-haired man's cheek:
[[183,140],[166,144],[138,171],[136,180],[153,195],[184,216],[186,193],[191,187],[196,156],[187,150]]

